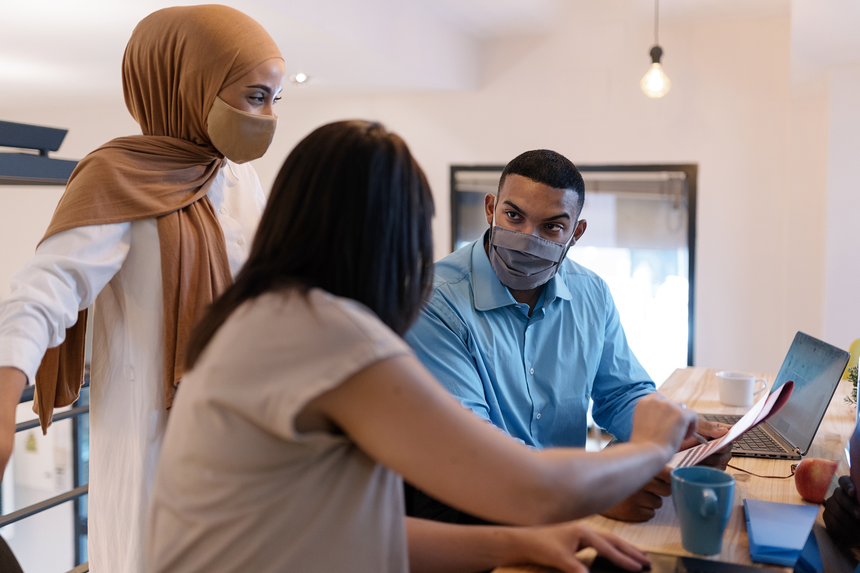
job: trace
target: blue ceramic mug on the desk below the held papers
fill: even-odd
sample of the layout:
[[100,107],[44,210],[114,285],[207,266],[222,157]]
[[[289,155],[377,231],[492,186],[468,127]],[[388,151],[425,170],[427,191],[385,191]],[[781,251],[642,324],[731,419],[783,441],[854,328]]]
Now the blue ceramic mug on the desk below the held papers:
[[685,550],[700,555],[722,551],[722,532],[734,502],[734,478],[703,465],[675,468],[672,502]]

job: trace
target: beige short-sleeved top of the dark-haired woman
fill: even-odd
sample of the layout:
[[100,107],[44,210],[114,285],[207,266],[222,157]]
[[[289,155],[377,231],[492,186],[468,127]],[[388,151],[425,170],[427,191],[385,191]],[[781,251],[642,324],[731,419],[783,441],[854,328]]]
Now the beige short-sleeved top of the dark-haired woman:
[[170,412],[147,570],[408,571],[401,478],[347,437],[298,434],[293,420],[353,373],[409,352],[371,311],[321,289],[240,306]]

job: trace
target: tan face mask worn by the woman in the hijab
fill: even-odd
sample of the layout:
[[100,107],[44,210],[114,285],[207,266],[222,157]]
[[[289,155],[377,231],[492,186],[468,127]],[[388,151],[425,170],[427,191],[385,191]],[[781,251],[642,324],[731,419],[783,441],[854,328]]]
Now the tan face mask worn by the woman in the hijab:
[[263,157],[278,126],[277,115],[256,115],[243,112],[215,98],[206,131],[215,149],[234,163],[246,163]]

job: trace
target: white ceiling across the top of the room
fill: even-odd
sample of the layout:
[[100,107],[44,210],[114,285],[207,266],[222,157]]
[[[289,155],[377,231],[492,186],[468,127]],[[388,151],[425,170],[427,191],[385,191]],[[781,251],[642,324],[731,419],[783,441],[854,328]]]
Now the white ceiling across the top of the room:
[[[209,0],[212,1],[212,0]],[[185,3],[185,2],[183,2]],[[483,40],[593,19],[642,20],[653,0],[227,0],[278,42],[307,89],[468,90]],[[0,17],[0,106],[115,97],[136,23],[167,0],[20,0]],[[860,61],[860,0],[662,0],[661,22],[789,14],[798,73]],[[562,17],[563,16],[563,17]],[[730,41],[730,39],[727,39]]]

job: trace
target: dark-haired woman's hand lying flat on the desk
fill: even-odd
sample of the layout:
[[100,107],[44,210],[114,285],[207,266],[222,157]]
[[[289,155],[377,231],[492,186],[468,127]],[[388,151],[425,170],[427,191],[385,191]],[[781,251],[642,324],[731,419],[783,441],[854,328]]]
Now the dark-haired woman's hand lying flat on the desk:
[[642,570],[651,562],[644,551],[611,533],[600,533],[570,521],[554,526],[516,527],[512,529],[514,551],[507,564],[537,564],[555,567],[565,573],[587,573],[588,568],[576,558],[576,552],[593,547],[598,555],[630,571]]

